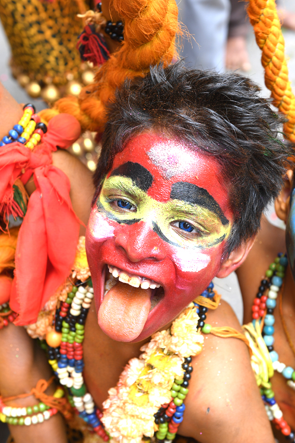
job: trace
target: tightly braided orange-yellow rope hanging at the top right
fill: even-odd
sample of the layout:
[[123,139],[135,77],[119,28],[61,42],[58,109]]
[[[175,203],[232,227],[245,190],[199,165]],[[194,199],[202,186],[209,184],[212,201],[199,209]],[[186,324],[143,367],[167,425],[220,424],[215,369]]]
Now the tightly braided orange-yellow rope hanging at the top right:
[[285,40],[275,0],[250,0],[248,15],[256,42],[262,50],[266,88],[271,91],[273,104],[286,115],[288,122],[284,125],[284,132],[295,143],[295,96],[289,81]]

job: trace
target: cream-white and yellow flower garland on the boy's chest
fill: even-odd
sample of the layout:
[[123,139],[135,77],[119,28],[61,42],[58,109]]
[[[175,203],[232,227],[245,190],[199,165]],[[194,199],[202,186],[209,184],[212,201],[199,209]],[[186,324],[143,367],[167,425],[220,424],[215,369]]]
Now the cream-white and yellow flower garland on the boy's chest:
[[106,431],[120,443],[140,443],[152,437],[157,427],[154,414],[171,402],[174,380],[183,378],[185,357],[201,352],[204,337],[197,331],[199,316],[191,303],[173,322],[170,330],[156,332],[124,368],[118,384],[103,403]]

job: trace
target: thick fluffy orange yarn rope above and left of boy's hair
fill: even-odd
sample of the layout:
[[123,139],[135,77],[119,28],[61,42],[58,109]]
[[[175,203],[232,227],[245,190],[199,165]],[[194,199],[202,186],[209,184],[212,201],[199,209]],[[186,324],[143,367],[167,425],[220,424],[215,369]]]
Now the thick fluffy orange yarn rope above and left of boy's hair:
[[144,76],[149,65],[167,66],[176,56],[178,32],[175,0],[112,0],[110,12],[124,22],[124,41],[120,49],[98,70],[93,84],[83,88],[78,98],[65,97],[53,109],[41,111],[48,121],[59,112],[73,115],[82,131],[102,132],[106,123],[106,105],[126,78]]

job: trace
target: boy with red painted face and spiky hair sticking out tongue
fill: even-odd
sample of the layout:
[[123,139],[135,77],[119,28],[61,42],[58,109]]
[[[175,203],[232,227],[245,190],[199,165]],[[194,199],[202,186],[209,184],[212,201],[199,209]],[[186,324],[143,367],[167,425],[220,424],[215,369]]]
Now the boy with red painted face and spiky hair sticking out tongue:
[[[233,74],[152,69],[118,91],[109,116],[87,229],[84,375],[98,405],[151,334],[243,262],[286,158],[277,117]],[[207,321],[239,327],[224,303]],[[206,337],[180,434],[273,441],[246,354],[238,340]]]

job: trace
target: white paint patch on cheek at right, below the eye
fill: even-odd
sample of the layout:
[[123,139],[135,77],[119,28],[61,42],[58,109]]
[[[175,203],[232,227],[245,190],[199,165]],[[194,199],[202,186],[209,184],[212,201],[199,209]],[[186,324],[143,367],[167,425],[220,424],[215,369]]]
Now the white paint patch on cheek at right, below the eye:
[[197,251],[177,249],[173,254],[173,259],[181,271],[199,272],[207,267],[210,256]]

